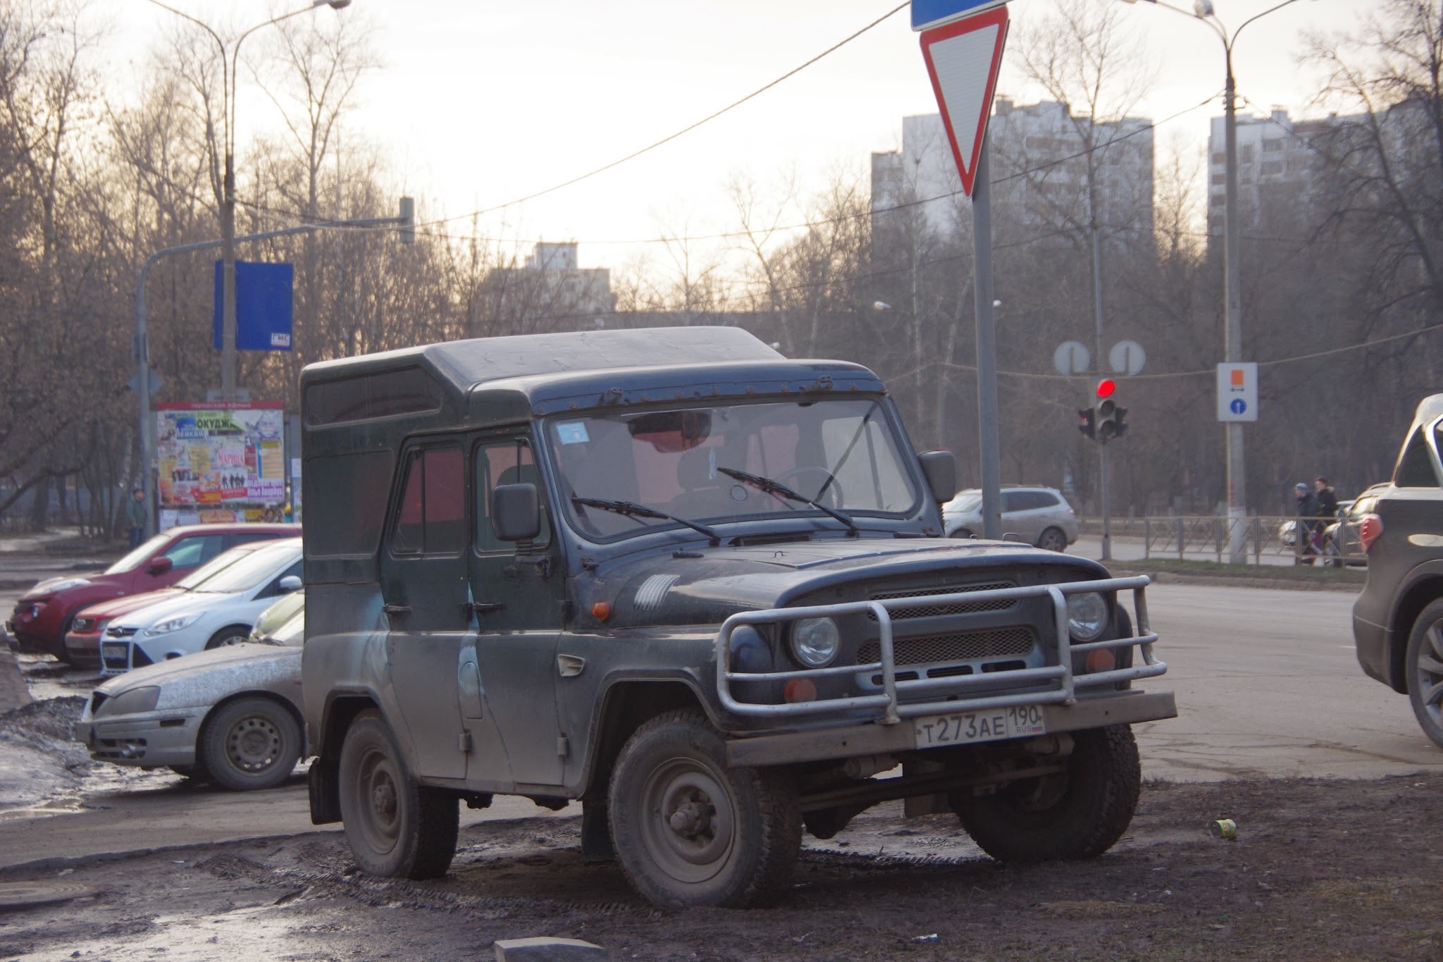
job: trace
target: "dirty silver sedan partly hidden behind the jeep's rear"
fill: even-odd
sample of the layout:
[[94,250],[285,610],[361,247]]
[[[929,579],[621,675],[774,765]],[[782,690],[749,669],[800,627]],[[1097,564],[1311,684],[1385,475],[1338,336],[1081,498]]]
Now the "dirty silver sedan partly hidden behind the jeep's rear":
[[300,612],[273,635],[107,681],[75,724],[92,759],[169,767],[244,792],[284,782],[304,753]]

